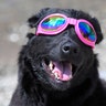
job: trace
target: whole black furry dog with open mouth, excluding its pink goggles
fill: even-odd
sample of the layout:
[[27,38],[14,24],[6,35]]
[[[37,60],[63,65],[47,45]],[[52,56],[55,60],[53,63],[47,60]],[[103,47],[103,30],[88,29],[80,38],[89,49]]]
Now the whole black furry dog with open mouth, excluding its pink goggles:
[[[30,26],[38,30],[41,20],[52,13],[87,20],[97,34],[95,44],[103,40],[97,19],[83,11],[46,8],[29,19]],[[10,106],[106,106],[96,54],[78,39],[73,25],[56,35],[29,33],[28,38],[20,52],[19,81]]]

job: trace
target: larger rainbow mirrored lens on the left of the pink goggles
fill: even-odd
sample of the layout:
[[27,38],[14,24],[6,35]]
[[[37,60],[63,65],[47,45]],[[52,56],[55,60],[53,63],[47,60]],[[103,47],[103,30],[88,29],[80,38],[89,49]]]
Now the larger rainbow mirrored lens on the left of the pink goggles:
[[53,15],[53,17],[45,19],[41,23],[41,28],[44,30],[57,30],[64,23],[65,23],[65,19],[63,17]]

